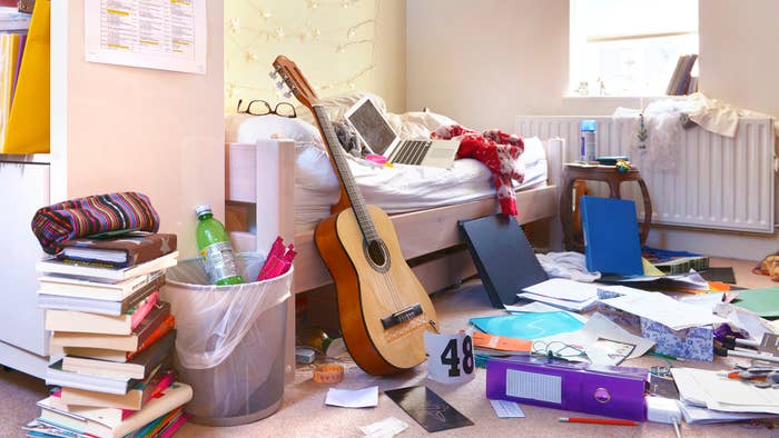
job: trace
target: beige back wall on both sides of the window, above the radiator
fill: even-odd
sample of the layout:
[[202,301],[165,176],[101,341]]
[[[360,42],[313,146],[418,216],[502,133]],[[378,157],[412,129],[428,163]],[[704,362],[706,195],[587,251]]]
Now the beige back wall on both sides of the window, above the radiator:
[[[563,98],[569,0],[407,1],[407,104],[476,129],[515,115],[609,115],[629,98]],[[779,1],[700,1],[700,87],[779,116]],[[431,31],[428,29],[434,29]]]

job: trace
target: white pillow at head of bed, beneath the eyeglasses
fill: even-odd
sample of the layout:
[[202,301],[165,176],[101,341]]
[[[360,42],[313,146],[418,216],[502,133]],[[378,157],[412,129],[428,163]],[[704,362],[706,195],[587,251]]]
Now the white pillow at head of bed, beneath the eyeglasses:
[[276,115],[225,115],[226,142],[254,143],[257,140],[270,138],[288,138],[295,140],[295,143],[299,146],[322,147],[319,130],[298,118]]

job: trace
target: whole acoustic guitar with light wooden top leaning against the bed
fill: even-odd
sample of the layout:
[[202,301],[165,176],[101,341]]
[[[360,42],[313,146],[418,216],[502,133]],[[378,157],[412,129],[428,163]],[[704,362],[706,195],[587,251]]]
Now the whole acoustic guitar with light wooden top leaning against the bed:
[[433,302],[406,263],[389,217],[365,205],[314,89],[289,59],[279,56],[273,66],[313,112],[341,180],[341,199],[317,225],[314,240],[335,280],[346,348],[371,375],[413,368],[426,358],[424,331],[438,331]]

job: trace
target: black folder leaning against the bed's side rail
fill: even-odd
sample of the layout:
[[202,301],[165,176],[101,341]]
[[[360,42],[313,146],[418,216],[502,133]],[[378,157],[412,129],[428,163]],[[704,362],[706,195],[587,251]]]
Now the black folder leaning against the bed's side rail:
[[458,223],[492,306],[513,305],[522,289],[549,279],[514,218],[495,215]]

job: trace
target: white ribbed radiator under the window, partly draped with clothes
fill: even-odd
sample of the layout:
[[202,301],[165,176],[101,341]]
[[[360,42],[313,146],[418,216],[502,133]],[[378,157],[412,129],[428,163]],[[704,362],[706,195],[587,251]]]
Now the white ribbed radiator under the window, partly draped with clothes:
[[[579,122],[583,119],[598,122],[599,156],[630,157],[634,151],[633,146],[623,143],[625,138],[632,138],[635,120],[624,118],[521,116],[516,118],[516,132],[522,137],[563,138],[568,145],[563,162],[571,162],[579,158]],[[773,232],[776,170],[771,118],[742,118],[734,138],[693,127],[681,130],[674,139],[679,150],[674,151],[678,159],[672,169],[639,169],[652,198],[652,223]],[[608,196],[605,185],[588,183],[591,186],[593,195]],[[623,183],[622,196],[638,201],[641,218],[641,195],[634,186]]]

